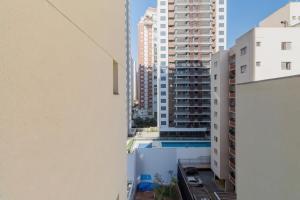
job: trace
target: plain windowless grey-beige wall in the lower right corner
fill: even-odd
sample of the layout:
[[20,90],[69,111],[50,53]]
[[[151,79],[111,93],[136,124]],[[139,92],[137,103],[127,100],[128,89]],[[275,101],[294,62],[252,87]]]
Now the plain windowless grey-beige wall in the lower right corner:
[[237,85],[237,195],[300,199],[300,77]]

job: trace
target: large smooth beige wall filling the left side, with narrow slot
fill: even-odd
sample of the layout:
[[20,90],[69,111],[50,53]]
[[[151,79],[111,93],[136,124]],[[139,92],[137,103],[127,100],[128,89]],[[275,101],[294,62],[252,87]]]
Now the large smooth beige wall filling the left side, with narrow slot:
[[1,1],[1,200],[126,199],[124,9]]

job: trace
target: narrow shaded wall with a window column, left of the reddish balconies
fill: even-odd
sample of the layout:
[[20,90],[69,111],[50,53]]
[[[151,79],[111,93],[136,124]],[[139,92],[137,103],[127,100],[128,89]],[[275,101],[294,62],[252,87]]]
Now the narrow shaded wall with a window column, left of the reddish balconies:
[[228,56],[228,51],[213,55],[211,68],[211,168],[224,180],[228,179]]

